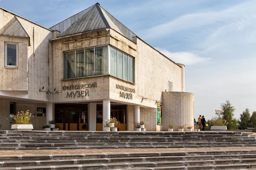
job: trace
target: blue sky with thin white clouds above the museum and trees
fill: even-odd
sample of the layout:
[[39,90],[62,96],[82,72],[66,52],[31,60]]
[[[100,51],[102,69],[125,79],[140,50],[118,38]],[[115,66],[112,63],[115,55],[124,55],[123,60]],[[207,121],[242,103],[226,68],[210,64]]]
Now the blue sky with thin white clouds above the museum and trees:
[[185,65],[195,118],[215,116],[226,100],[239,118],[256,111],[255,0],[0,0],[0,6],[47,28],[95,3],[138,37]]

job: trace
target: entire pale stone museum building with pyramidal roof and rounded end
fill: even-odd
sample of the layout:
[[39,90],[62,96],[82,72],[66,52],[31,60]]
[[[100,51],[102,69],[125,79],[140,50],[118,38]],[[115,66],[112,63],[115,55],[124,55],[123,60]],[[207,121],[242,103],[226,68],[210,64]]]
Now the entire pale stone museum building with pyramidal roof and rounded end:
[[[157,32],[152,32],[157,34]],[[29,110],[34,130],[119,131],[146,122],[194,125],[194,94],[184,92],[184,65],[143,41],[99,3],[45,28],[0,8],[0,124]]]

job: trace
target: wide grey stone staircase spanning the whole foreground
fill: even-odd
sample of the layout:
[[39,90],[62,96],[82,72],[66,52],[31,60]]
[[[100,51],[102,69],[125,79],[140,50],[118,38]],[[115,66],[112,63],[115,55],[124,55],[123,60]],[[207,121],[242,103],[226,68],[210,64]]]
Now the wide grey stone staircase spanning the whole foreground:
[[[194,148],[172,152],[165,148]],[[215,147],[209,151],[207,148]],[[221,150],[236,147],[236,150]],[[98,149],[77,154],[0,156],[0,170],[256,170],[256,140],[241,132],[0,131],[0,150]],[[129,152],[129,149],[150,149]],[[159,149],[161,151],[159,152]],[[121,152],[119,149],[125,150]],[[158,149],[158,151],[152,151]],[[116,152],[115,152],[116,150]],[[176,149],[177,150],[177,149]],[[112,151],[109,153],[108,151]]]

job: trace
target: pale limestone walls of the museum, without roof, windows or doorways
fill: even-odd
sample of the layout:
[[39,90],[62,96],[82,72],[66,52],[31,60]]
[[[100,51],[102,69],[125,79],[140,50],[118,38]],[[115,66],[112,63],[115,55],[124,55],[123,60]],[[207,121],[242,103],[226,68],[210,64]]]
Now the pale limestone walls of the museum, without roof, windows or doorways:
[[[9,103],[12,101],[16,103],[16,113],[26,110],[38,112],[37,108],[45,108],[52,103],[52,119],[55,116],[54,104],[88,105],[89,130],[96,130],[96,106],[102,105],[103,100],[110,100],[111,105],[127,106],[126,130],[134,130],[135,105],[140,106],[140,121],[148,124],[147,130],[166,130],[167,124],[173,121],[192,125],[194,98],[193,94],[183,93],[184,65],[175,63],[139,37],[131,40],[113,28],[61,37],[58,31],[39,26],[2,8],[0,29],[15,16],[29,39],[0,35],[0,63],[5,62],[5,43],[15,42],[18,45],[18,67],[5,68],[0,64],[0,124],[4,130],[10,129],[10,123],[4,118],[9,118]],[[107,74],[64,79],[65,51],[104,45],[134,58],[134,82],[110,74],[109,56]],[[172,82],[172,91],[175,92],[165,92],[169,91],[169,82]],[[78,85],[86,87],[87,91],[79,91],[77,95]],[[132,99],[123,97],[121,94],[125,91],[118,86],[134,89],[129,92]],[[81,97],[81,93],[87,95]],[[163,103],[163,125],[160,126],[157,125],[157,102]],[[41,130],[46,123],[44,115],[32,119],[35,130]]]

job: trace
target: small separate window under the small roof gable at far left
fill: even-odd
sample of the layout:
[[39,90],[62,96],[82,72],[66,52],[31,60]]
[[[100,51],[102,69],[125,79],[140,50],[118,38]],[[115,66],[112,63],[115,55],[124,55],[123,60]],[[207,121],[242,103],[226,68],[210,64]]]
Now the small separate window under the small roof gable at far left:
[[18,45],[15,43],[5,43],[5,67],[18,67]]

